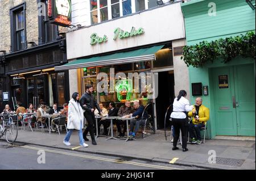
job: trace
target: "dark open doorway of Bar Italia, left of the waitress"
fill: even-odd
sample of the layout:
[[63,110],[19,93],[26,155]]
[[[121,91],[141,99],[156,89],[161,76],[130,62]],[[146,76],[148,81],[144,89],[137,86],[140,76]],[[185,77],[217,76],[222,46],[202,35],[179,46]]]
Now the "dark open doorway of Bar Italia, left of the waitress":
[[[174,71],[158,73],[158,97],[155,99],[156,123],[158,129],[164,128],[164,116],[170,104],[174,102]],[[170,127],[170,123],[167,122]]]

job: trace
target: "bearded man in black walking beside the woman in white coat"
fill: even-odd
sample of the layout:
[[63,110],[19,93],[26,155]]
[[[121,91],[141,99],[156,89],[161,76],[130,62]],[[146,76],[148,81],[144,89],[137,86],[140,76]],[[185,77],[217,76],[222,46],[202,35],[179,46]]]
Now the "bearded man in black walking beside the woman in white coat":
[[94,138],[94,131],[93,131],[93,124],[95,123],[95,117],[94,117],[94,109],[97,108],[98,112],[102,113],[100,110],[100,107],[98,106],[98,103],[96,99],[94,98],[93,93],[93,86],[92,85],[86,85],[86,92],[84,95],[82,95],[80,99],[80,105],[82,109],[85,110],[84,117],[88,123],[88,127],[86,127],[84,133],[82,136],[84,137],[85,141],[89,141],[88,138],[86,138],[86,135],[88,132],[90,132],[90,137],[92,138],[92,144],[97,145],[95,138]]

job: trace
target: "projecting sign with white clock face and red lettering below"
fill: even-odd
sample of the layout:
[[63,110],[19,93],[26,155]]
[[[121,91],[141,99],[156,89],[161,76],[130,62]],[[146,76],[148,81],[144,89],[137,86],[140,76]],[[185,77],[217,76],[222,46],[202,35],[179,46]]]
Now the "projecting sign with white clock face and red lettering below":
[[71,26],[71,0],[49,0],[47,9],[49,23]]

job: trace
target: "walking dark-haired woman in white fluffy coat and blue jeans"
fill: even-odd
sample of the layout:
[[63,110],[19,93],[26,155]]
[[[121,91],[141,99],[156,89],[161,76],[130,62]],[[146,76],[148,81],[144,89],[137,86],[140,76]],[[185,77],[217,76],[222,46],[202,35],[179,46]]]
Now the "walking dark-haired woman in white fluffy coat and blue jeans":
[[87,144],[84,143],[84,138],[82,137],[82,127],[84,123],[84,113],[82,111],[82,107],[79,104],[79,93],[74,92],[72,94],[72,99],[69,100],[68,104],[68,133],[66,134],[63,143],[67,146],[71,145],[69,142],[69,138],[73,133],[73,130],[79,130],[79,141],[80,145],[83,147],[88,147]]

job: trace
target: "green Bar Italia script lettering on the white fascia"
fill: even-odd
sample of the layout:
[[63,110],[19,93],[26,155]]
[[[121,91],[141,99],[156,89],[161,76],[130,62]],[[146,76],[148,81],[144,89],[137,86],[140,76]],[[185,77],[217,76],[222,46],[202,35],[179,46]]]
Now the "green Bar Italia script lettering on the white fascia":
[[[132,27],[130,32],[124,31],[121,28],[115,28],[113,40],[117,40],[118,38],[125,39],[133,36],[139,36],[142,35],[144,32],[145,31],[143,28],[138,28],[138,30],[136,30],[134,27]],[[95,45],[97,43],[105,43],[106,41],[108,41],[108,36],[106,35],[104,35],[103,37],[98,36],[97,33],[92,33],[92,35],[90,35],[91,45]]]

